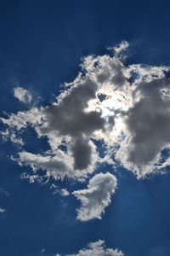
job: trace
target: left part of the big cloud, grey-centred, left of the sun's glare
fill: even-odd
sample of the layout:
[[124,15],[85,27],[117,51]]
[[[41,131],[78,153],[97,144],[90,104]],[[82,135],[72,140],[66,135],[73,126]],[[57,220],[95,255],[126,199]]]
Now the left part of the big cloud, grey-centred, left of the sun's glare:
[[[33,171],[38,168],[45,170],[47,175],[55,178],[83,179],[94,172],[99,154],[93,138],[100,139],[96,132],[103,136],[114,125],[113,114],[106,117],[106,108],[99,108],[97,95],[107,79],[110,84],[115,81],[122,85],[125,77],[122,63],[109,55],[88,56],[82,63],[82,70],[83,73],[79,73],[73,82],[65,83],[65,90],[61,91],[57,102],[47,107],[11,113],[7,119],[1,118],[11,131],[21,133],[31,126],[37,137],[48,138],[50,151],[40,155],[23,150],[19,158],[12,158],[21,166],[31,166]],[[89,106],[93,101],[94,108]],[[65,150],[61,152],[62,147]]]

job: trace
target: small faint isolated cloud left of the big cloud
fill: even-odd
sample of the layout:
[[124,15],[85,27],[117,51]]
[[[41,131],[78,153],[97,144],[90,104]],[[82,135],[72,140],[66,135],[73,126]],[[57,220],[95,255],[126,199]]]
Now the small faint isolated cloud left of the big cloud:
[[24,103],[31,103],[32,101],[31,92],[20,86],[14,87],[14,97]]

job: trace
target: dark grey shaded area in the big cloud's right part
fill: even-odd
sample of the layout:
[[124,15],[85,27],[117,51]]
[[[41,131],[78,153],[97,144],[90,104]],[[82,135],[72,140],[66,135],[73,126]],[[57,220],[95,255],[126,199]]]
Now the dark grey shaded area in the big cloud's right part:
[[169,85],[169,79],[157,79],[139,84],[134,93],[140,93],[141,99],[127,113],[127,126],[133,134],[129,160],[139,166],[153,160],[170,143]]

